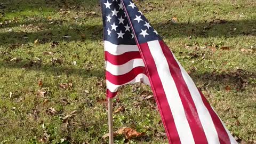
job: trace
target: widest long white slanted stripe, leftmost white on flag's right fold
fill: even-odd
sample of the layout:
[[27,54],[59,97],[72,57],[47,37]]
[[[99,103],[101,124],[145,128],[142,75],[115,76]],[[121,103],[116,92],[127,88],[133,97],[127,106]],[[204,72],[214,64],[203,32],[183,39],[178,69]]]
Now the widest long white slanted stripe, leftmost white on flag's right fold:
[[193,144],[195,142],[186,118],[185,110],[161,45],[158,41],[150,41],[148,42],[148,47],[155,61],[157,72],[161,79],[167,101],[172,111],[174,123],[180,136],[180,141],[181,143]]

